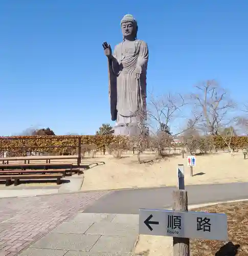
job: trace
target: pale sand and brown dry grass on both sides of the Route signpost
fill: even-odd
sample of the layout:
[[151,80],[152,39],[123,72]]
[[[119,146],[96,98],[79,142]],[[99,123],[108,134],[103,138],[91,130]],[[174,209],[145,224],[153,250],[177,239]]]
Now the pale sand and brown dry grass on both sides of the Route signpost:
[[[248,203],[227,203],[194,208],[195,211],[226,213],[228,216],[227,244],[220,241],[190,241],[191,256],[247,256],[248,255]],[[172,238],[162,236],[139,237],[134,253],[144,256],[172,256]]]

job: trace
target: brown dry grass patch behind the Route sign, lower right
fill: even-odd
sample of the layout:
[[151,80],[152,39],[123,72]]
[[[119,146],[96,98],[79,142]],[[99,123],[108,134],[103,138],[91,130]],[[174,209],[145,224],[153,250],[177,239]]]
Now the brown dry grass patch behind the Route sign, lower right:
[[[191,240],[192,256],[247,256],[248,255],[248,202],[218,204],[194,209],[228,216],[229,244],[213,240]],[[222,249],[220,250],[220,248]]]

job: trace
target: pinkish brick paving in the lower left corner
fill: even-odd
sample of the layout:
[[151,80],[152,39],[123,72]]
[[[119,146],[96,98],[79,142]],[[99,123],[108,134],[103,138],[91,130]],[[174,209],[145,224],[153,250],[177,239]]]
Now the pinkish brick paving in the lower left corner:
[[0,199],[0,256],[14,256],[107,191]]

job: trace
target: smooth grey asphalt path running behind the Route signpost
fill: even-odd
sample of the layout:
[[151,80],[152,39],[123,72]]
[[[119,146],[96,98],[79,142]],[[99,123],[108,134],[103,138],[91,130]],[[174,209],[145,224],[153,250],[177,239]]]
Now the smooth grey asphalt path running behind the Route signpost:
[[[139,214],[139,208],[169,208],[175,187],[118,190],[101,198],[84,212],[103,214]],[[189,204],[248,198],[248,183],[186,186]]]

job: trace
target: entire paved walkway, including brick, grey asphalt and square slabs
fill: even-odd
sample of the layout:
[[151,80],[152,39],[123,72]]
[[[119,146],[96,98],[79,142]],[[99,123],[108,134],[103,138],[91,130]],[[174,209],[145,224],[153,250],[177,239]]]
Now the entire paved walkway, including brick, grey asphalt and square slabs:
[[[2,198],[0,256],[14,256],[20,252],[21,256],[111,256],[114,252],[124,255],[130,252],[138,233],[137,217],[125,214],[138,214],[139,208],[170,207],[173,189]],[[186,189],[189,204],[248,198],[248,183],[194,185]]]

